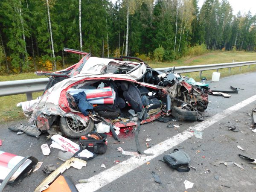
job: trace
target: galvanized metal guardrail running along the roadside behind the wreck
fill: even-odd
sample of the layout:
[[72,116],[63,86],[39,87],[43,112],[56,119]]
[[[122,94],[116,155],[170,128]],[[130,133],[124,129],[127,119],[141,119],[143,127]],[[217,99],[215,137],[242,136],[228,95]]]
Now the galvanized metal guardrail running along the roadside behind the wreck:
[[[219,70],[224,68],[240,67],[247,65],[254,65],[256,61],[244,61],[236,63],[220,63],[220,64],[208,64],[208,65],[191,65],[183,67],[175,67],[175,73],[191,73],[191,72],[200,72],[200,77],[202,71],[207,70]],[[164,71],[172,67],[165,68],[156,68],[155,70]],[[17,81],[3,81],[0,82],[0,96],[10,96],[26,93],[27,99],[32,99],[32,93],[43,91],[47,85],[48,78],[41,79],[26,79],[26,80],[17,80]]]

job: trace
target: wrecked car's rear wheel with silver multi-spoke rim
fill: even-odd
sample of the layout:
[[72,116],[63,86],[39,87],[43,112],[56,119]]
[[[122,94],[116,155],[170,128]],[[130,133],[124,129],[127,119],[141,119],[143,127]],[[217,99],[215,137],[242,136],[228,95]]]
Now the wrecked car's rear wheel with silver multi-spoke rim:
[[[87,126],[85,127],[80,121],[79,125],[75,125],[74,120],[70,117],[61,117],[60,129],[61,132],[70,138],[80,138],[83,135],[87,135],[93,131],[94,121],[89,118]],[[76,130],[77,129],[77,130]]]

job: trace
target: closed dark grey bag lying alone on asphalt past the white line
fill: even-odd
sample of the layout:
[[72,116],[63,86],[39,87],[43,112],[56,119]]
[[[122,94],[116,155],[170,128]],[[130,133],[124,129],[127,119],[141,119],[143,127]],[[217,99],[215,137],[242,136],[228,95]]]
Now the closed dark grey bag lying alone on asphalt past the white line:
[[[190,157],[184,151],[179,151],[177,148],[171,154],[163,156],[164,162],[178,172],[189,172]],[[184,167],[181,169],[180,167]]]

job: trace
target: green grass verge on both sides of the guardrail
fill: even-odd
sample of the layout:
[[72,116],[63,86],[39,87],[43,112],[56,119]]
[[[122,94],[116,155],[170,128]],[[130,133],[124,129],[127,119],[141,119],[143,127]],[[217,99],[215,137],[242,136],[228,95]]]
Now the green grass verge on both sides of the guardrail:
[[[186,65],[201,65],[201,64],[217,64],[217,63],[230,63],[230,62],[239,62],[239,61],[255,61],[256,53],[255,52],[221,52],[214,51],[209,52],[205,55],[196,56],[196,57],[186,57],[180,58],[176,61],[166,61],[166,62],[155,62],[149,61],[147,62],[153,68],[161,68],[161,67],[177,67],[177,66],[186,66]],[[212,72],[216,70],[204,71],[202,73],[202,77],[206,77],[208,80],[212,78]],[[241,67],[233,67],[231,72],[229,69],[221,69],[219,72],[221,73],[221,78],[225,76],[235,75],[238,73],[246,73],[250,71],[256,71],[256,65],[252,66],[244,66]],[[182,74],[183,76],[189,76],[194,78],[196,81],[199,81],[199,72],[194,73],[186,73]],[[21,79],[35,79],[42,78],[44,76],[36,76],[34,73],[22,73],[18,75],[7,75],[0,76],[0,81],[13,81],[13,80],[21,80]],[[42,92],[33,93],[33,99],[40,96]],[[21,108],[16,107],[18,102],[26,101],[26,94],[14,95],[14,96],[4,96],[0,97],[0,124],[12,121],[25,119],[23,111]]]

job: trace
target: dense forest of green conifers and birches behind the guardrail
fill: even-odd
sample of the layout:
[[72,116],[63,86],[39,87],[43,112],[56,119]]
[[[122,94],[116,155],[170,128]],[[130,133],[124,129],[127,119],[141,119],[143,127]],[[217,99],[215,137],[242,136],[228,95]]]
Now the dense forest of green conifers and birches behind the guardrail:
[[93,56],[173,60],[193,47],[256,49],[256,15],[228,0],[1,0],[0,73],[56,70]]

